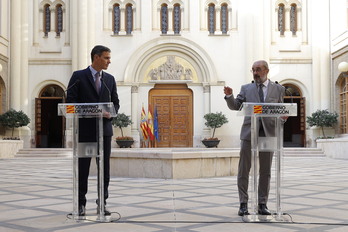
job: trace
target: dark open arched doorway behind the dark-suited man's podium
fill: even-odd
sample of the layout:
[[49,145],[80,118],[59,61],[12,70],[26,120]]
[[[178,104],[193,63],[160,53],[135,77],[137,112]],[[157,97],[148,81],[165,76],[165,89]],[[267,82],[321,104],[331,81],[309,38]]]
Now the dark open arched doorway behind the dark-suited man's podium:
[[61,148],[64,144],[64,119],[58,116],[58,104],[64,90],[58,85],[44,87],[35,99],[35,143],[38,148]]

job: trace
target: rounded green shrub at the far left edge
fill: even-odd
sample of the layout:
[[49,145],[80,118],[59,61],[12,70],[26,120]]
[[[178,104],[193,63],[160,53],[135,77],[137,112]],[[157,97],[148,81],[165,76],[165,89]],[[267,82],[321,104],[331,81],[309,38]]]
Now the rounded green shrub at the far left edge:
[[10,128],[12,130],[12,135],[9,138],[4,138],[7,140],[19,140],[18,137],[13,137],[14,128],[26,126],[30,123],[30,118],[23,111],[16,111],[10,109],[6,113],[0,115],[0,124],[5,128]]

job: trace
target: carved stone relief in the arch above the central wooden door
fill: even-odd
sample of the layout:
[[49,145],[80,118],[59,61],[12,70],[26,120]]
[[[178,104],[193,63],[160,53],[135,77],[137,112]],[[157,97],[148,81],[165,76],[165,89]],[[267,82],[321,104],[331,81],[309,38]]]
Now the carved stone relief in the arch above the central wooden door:
[[176,63],[175,56],[167,56],[167,61],[149,74],[151,80],[192,80],[192,70]]

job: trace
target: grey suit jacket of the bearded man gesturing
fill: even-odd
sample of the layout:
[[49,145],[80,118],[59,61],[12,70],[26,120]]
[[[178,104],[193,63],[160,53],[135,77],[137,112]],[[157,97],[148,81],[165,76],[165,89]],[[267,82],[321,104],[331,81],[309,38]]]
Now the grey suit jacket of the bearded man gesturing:
[[[283,102],[284,94],[285,88],[283,86],[269,81],[265,103],[281,103]],[[261,102],[257,84],[255,83],[243,85],[236,98],[232,95],[231,97],[225,97],[225,100],[228,108],[231,110],[239,110],[243,102]],[[261,120],[266,136],[275,136],[276,119],[272,117],[262,117]],[[240,139],[251,140],[251,117],[244,117]]]

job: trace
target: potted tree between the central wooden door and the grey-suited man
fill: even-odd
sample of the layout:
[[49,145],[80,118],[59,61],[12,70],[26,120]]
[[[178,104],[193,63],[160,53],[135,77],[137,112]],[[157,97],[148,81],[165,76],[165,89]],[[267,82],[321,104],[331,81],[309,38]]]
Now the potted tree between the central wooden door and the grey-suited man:
[[213,135],[210,138],[205,138],[202,140],[202,143],[206,147],[217,147],[220,143],[218,138],[215,138],[215,130],[216,128],[220,128],[225,123],[228,123],[228,120],[222,112],[217,113],[208,113],[204,115],[204,119],[206,120],[205,125],[211,129],[213,129]]

